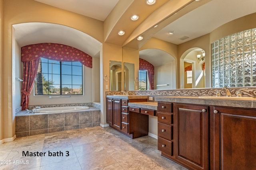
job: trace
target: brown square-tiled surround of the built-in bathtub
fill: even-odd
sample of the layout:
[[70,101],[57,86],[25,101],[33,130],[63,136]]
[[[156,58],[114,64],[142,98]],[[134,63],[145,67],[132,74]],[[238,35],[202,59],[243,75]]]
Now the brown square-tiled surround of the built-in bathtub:
[[29,114],[20,111],[15,117],[15,134],[16,137],[25,137],[99,125],[100,109],[91,106],[85,111],[66,113]]

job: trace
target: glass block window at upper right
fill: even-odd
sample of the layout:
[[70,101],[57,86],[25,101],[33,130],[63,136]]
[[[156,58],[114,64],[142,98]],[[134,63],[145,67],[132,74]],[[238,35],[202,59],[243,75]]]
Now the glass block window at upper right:
[[212,87],[256,86],[256,28],[211,44]]

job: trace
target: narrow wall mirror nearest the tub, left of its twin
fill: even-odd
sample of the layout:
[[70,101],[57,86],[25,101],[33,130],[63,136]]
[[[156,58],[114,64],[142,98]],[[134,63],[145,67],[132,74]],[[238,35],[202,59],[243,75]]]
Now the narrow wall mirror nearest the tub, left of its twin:
[[122,90],[122,62],[121,61],[110,61],[110,91],[121,91]]

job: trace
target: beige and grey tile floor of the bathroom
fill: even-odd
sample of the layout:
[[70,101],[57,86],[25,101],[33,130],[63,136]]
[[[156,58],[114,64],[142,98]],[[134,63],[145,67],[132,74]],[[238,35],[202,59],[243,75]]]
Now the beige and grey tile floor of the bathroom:
[[0,170],[186,170],[160,155],[156,139],[99,126],[16,138],[0,145],[0,161]]

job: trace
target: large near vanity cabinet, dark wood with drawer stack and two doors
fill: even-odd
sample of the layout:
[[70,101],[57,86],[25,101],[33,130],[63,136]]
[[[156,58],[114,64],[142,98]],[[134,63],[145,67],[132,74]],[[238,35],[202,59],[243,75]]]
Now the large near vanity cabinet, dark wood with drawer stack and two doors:
[[158,150],[188,169],[256,170],[255,129],[256,109],[158,102]]

